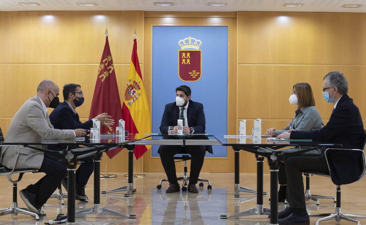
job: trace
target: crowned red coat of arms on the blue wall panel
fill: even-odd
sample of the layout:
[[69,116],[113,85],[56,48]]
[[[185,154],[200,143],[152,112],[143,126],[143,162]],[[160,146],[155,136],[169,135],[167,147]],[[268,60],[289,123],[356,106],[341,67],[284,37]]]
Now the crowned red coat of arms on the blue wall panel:
[[201,50],[198,50],[202,44],[201,40],[192,38],[190,35],[188,38],[179,40],[178,44],[182,49],[179,50],[179,78],[186,82],[198,81],[202,75]]

